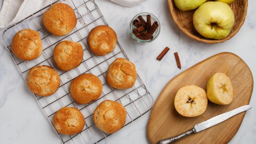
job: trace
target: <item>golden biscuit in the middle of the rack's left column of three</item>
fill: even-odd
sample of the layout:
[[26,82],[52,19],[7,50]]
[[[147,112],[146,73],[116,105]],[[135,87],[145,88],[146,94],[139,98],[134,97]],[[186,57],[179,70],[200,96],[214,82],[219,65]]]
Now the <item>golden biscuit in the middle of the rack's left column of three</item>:
[[59,89],[60,77],[49,66],[31,68],[27,77],[28,89],[39,96],[51,96]]

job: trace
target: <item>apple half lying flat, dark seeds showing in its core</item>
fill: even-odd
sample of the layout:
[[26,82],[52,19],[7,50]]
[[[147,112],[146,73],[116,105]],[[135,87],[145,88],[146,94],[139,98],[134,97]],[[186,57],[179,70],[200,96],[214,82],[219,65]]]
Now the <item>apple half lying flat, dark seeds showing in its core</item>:
[[205,90],[196,85],[180,88],[174,98],[175,109],[185,117],[196,117],[203,114],[207,103]]

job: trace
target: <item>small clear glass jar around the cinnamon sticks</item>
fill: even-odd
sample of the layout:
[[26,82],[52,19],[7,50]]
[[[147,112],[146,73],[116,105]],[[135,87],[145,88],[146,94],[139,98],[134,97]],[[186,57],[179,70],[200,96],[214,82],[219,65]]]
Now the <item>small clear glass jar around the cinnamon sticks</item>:
[[[136,29],[136,28],[137,28],[136,26],[132,25],[132,22],[133,22],[134,19],[138,19],[138,16],[140,16],[140,15],[142,16],[142,18],[145,19],[145,21],[147,21],[147,15],[148,15],[148,14],[151,15],[151,25],[152,25],[155,21],[157,21],[158,24],[159,24],[159,26],[158,26],[158,28],[156,29],[156,31],[153,33],[153,36],[154,36],[154,37],[153,37],[152,40],[140,40],[139,38],[137,38],[137,37],[132,33],[132,29]],[[156,38],[158,37],[158,35],[159,35],[159,33],[160,33],[160,30],[161,30],[161,26],[160,26],[159,20],[156,18],[156,16],[154,16],[153,14],[148,13],[148,12],[142,12],[142,13],[137,14],[136,16],[134,16],[134,17],[132,18],[132,21],[131,21],[131,23],[130,23],[130,33],[131,33],[131,36],[132,36],[132,40],[133,40],[135,43],[140,44],[140,45],[145,45],[145,44],[148,44],[148,43],[150,43],[150,42],[156,40]]]

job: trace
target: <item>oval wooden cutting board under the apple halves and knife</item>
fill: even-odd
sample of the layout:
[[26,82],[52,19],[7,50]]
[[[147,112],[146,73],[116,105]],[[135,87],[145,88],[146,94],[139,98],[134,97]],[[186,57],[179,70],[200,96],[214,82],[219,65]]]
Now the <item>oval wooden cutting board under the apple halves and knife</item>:
[[[209,78],[217,72],[223,72],[231,79],[234,87],[233,102],[228,105],[218,105],[208,101],[207,109],[202,115],[192,118],[181,116],[174,108],[176,92],[188,84],[195,84],[206,90]],[[252,89],[252,72],[237,55],[225,52],[201,61],[166,84],[150,114],[147,129],[148,139],[155,144],[159,140],[183,133],[214,116],[249,104]],[[245,112],[237,114],[218,125],[177,141],[177,143],[228,143],[236,134],[244,115]]]

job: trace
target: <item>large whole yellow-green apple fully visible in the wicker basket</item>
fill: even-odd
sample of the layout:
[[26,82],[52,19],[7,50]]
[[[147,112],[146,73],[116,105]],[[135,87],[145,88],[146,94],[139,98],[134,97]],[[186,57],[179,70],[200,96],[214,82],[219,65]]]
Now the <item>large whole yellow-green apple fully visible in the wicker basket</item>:
[[235,24],[235,15],[230,6],[223,2],[206,2],[193,15],[196,31],[209,39],[224,39]]

